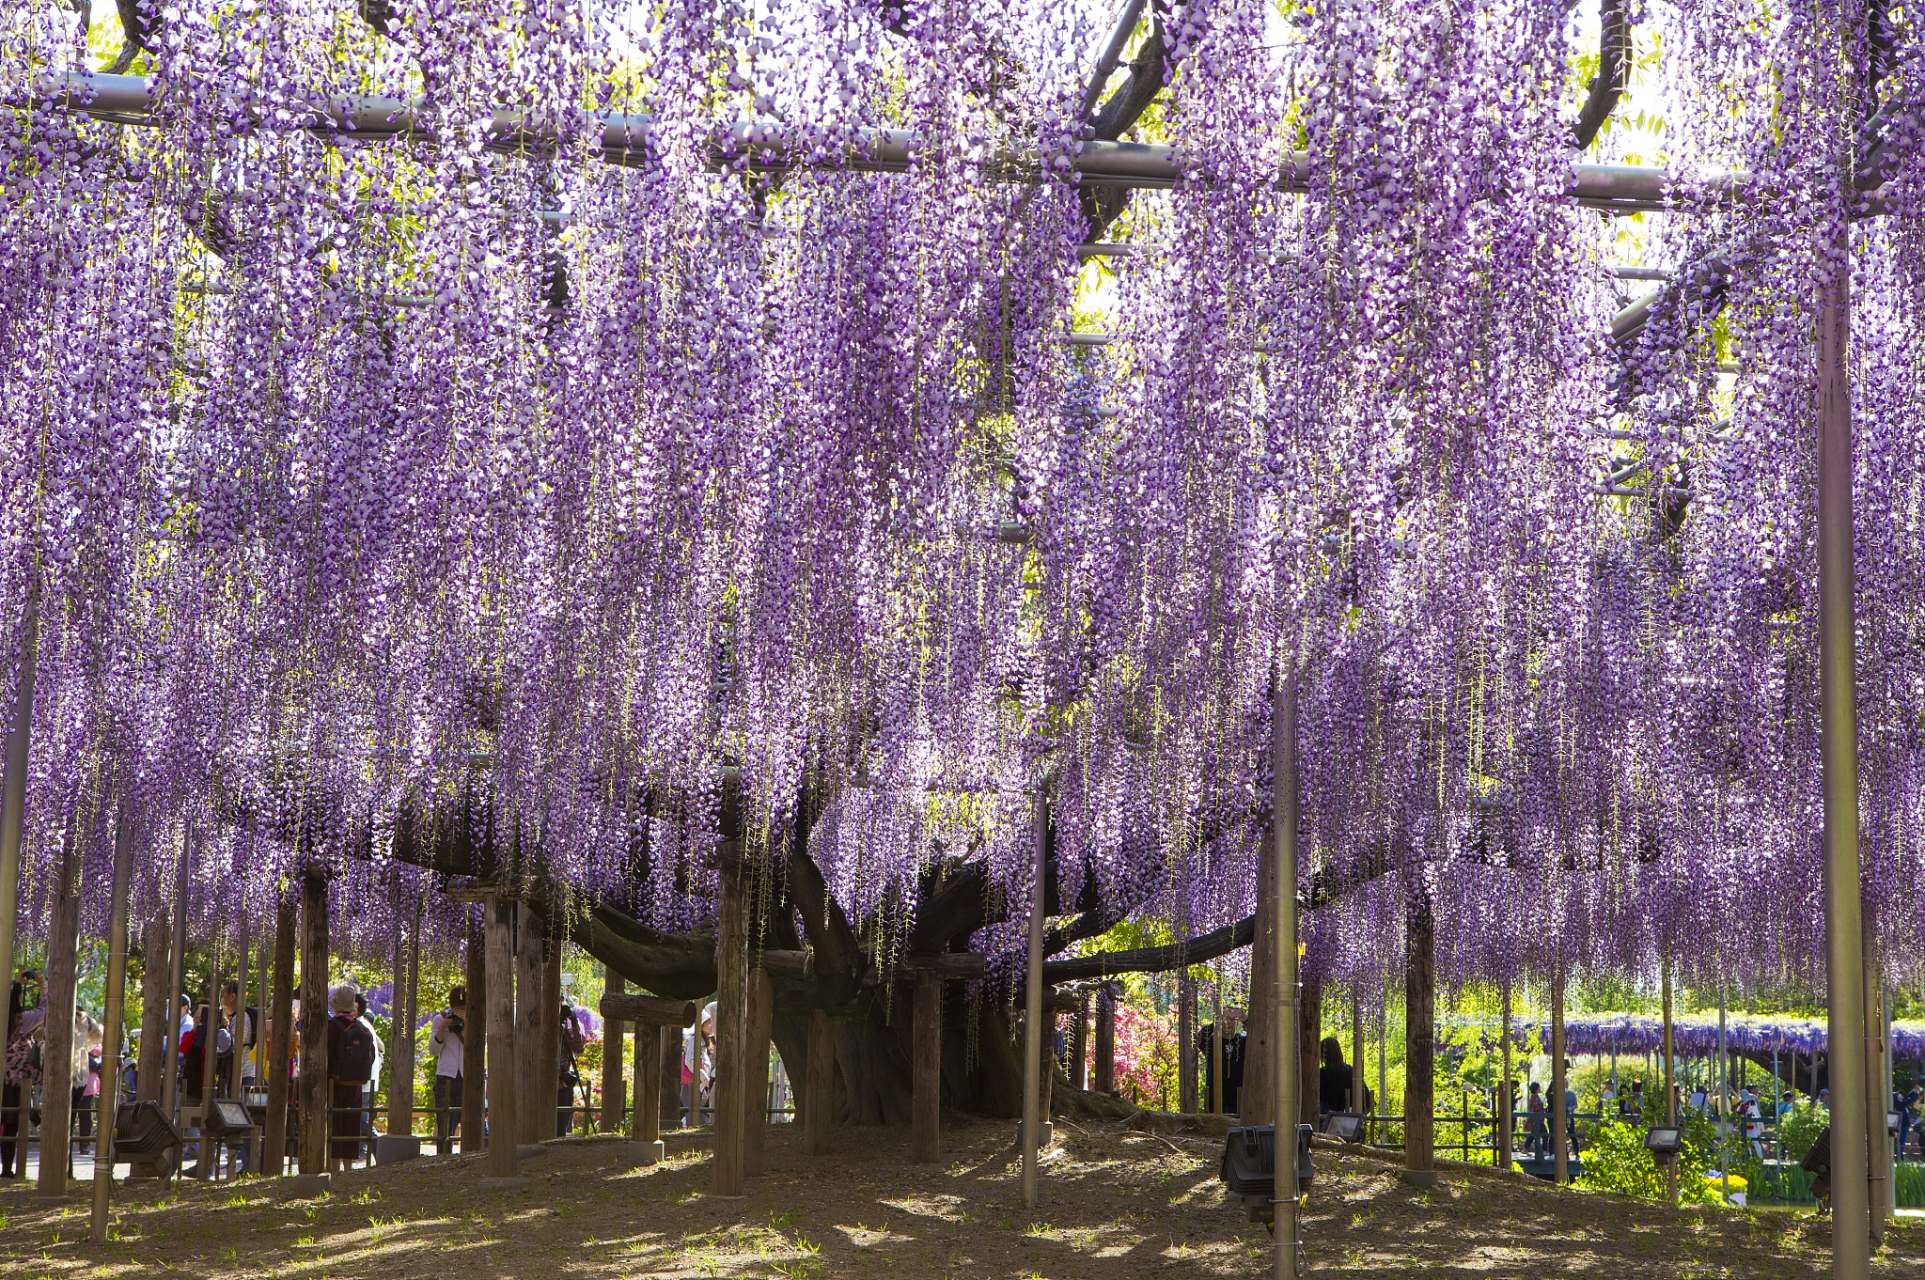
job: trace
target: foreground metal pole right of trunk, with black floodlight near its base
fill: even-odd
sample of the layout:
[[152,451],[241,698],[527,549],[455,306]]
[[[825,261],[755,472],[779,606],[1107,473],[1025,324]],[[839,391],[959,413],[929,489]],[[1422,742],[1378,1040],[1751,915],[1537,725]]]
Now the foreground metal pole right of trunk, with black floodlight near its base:
[[[1270,1195],[1276,1230],[1274,1280],[1297,1280],[1297,674],[1276,664],[1270,704],[1270,822],[1276,841],[1276,989],[1270,1026],[1276,1030],[1276,1182]],[[1261,995],[1261,993],[1253,993]],[[1251,1082],[1261,1088],[1261,1082]]]

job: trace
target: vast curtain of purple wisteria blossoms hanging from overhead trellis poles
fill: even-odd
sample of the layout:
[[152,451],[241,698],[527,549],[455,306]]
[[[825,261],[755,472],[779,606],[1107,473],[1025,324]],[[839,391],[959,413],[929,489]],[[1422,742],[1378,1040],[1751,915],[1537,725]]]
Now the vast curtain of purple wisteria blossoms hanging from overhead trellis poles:
[[[893,955],[964,860],[1024,901],[1047,793],[1059,883],[1190,935],[1251,909],[1290,679],[1313,974],[1376,991],[1424,903],[1451,980],[1813,982],[1852,223],[1865,903],[1915,962],[1910,19],[1609,6],[1669,123],[1592,141],[1565,4],[1140,10],[1093,96],[1093,2],[10,10],[29,889],[71,839],[98,928],[112,841],[139,910],[191,826],[194,920],[325,864],[339,949],[452,947],[402,864],[487,830],[687,930],[724,824],[807,824]],[[1084,171],[1136,75],[1168,191]]]

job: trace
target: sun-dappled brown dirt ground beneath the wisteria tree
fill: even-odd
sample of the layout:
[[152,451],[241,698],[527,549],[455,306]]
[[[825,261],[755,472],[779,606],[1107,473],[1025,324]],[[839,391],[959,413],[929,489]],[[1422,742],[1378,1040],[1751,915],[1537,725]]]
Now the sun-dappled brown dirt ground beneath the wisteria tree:
[[[0,1191],[0,1280],[616,1280],[628,1276],[997,1276],[1124,1280],[1265,1276],[1265,1228],[1222,1201],[1220,1139],[1057,1120],[1043,1203],[1022,1209],[1014,1126],[959,1122],[945,1165],[907,1163],[901,1130],[841,1130],[805,1161],[770,1132],[749,1197],[706,1193],[706,1138],[672,1134],[670,1159],[622,1168],[618,1139],[549,1143],[524,1191],[481,1191],[479,1157],[335,1176],[320,1199],[271,1182],[150,1184],[119,1191],[116,1240],[87,1243],[87,1203],[42,1209]],[[83,1188],[85,1191],[85,1188]],[[1363,1155],[1317,1153],[1305,1215],[1311,1272],[1596,1280],[1817,1276],[1829,1232],[1804,1215],[1671,1211],[1492,1176],[1401,1184]],[[1925,1274],[1925,1220],[1892,1226],[1873,1274]]]

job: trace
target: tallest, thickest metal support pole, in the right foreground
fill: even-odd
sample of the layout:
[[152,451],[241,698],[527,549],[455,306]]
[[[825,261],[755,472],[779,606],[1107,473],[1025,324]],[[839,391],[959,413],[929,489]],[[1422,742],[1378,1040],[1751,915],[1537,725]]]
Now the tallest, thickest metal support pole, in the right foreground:
[[[1846,169],[1848,181],[1850,169]],[[1825,1024],[1831,1114],[1865,1114],[1865,932],[1858,878],[1858,585],[1852,562],[1852,243],[1842,221],[1821,246],[1817,296],[1819,755],[1825,783]],[[1865,1126],[1831,1126],[1831,1274],[1871,1270]]]

